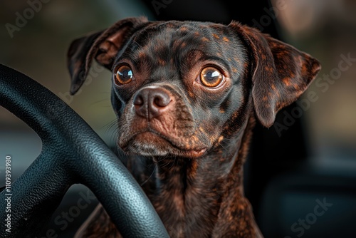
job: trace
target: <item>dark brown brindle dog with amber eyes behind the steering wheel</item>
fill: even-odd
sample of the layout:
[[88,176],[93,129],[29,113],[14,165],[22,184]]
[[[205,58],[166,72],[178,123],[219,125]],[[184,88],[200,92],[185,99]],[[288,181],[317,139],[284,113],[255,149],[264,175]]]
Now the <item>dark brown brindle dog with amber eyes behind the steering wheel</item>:
[[[112,71],[117,147],[171,237],[262,237],[244,197],[255,122],[308,88],[318,60],[257,29],[197,21],[117,21],[73,41],[70,93],[93,59]],[[98,205],[76,237],[120,237]]]

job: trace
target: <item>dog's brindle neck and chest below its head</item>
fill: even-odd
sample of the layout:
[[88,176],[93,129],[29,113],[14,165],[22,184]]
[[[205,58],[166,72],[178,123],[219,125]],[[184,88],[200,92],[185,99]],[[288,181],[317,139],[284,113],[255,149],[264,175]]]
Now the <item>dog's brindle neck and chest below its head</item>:
[[242,178],[253,125],[251,116],[234,137],[221,141],[205,157],[155,158],[154,169],[145,178],[137,178],[145,183],[142,187],[169,234],[205,237],[219,232],[214,230],[219,220],[226,222],[231,215],[236,217],[236,212],[245,216],[241,217],[245,222],[251,220],[245,226],[254,225],[251,208],[244,198]]

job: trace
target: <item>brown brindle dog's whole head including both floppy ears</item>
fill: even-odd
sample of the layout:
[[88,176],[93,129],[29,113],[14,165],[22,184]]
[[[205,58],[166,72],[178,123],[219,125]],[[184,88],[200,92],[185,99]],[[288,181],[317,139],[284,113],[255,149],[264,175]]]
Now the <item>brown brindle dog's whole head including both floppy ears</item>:
[[200,157],[255,113],[266,127],[308,87],[318,61],[240,24],[125,19],[68,53],[72,93],[90,63],[112,71],[117,143],[147,156]]

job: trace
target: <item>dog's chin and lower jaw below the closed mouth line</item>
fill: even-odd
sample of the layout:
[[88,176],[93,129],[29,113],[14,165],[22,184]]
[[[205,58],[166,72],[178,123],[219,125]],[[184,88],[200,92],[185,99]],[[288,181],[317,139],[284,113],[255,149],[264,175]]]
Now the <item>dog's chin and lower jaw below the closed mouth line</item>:
[[142,155],[145,157],[187,157],[198,158],[206,153],[206,148],[185,150],[172,145],[169,140],[155,133],[145,132],[135,135],[126,145],[119,145],[129,155]]

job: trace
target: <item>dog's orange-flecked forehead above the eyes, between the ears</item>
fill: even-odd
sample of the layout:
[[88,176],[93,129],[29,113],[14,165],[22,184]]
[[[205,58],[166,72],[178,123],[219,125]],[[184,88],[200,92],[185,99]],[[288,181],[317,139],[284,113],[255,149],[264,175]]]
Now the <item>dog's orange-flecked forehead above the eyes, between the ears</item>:
[[229,64],[241,51],[242,44],[228,26],[194,21],[152,23],[137,31],[122,57],[140,66],[149,61],[156,65],[174,61],[194,61],[214,58]]

